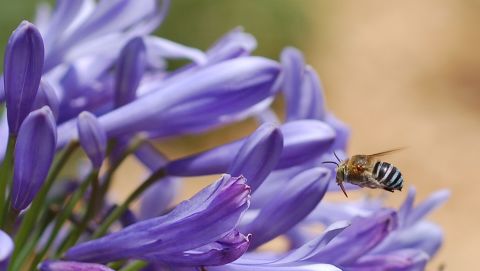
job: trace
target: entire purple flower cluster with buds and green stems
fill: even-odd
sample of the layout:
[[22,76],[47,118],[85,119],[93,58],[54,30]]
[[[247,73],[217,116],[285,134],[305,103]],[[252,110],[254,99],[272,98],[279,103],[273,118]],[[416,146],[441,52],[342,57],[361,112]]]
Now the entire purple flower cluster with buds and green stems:
[[[414,207],[410,188],[398,210],[322,201],[338,191],[322,161],[345,154],[349,130],[301,52],[252,56],[256,41],[241,29],[205,52],[150,35],[168,7],[59,0],[12,33],[0,87],[0,271],[423,270],[442,243],[423,218],[448,192]],[[168,69],[178,58],[188,64]],[[282,121],[270,109],[279,96]],[[188,157],[152,144],[246,118],[259,123],[248,137]],[[66,179],[78,149],[89,165]],[[113,202],[130,156],[149,176]],[[182,177],[211,174],[221,177],[172,206]],[[257,249],[280,236],[286,250]]]

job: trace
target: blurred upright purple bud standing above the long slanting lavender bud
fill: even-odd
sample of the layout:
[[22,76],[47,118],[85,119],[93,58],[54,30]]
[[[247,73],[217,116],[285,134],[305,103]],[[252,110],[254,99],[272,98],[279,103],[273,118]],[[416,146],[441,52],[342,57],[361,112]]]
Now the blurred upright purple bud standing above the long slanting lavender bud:
[[115,107],[135,99],[138,85],[145,71],[145,50],[143,39],[136,37],[120,52],[115,76]]

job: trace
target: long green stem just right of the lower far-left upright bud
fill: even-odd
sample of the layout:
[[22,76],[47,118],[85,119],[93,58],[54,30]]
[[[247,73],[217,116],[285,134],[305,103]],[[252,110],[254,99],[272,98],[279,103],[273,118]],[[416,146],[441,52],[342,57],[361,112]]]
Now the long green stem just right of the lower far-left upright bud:
[[[37,196],[33,200],[30,208],[26,212],[22,224],[20,225],[17,234],[15,235],[15,249],[13,251],[12,259],[15,261],[17,259],[17,254],[24,246],[26,240],[29,238],[29,235],[32,231],[32,228],[35,226],[37,219],[39,218],[38,214],[45,213],[48,206],[45,206],[45,200],[47,198],[48,191],[52,187],[55,179],[57,178],[60,170],[67,163],[70,156],[73,154],[75,149],[78,147],[78,142],[71,142],[65,151],[61,154],[59,159],[57,159],[50,170],[50,173],[47,177],[47,180],[43,184],[42,188],[38,192]],[[12,266],[12,265],[10,265]]]

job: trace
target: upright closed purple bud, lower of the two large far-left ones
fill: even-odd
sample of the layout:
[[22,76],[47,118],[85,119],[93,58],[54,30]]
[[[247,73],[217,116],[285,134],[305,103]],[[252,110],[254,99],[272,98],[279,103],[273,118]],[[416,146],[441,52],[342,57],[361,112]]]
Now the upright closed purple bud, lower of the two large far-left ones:
[[55,118],[47,106],[31,112],[15,144],[12,206],[21,211],[32,202],[47,177],[55,155]]

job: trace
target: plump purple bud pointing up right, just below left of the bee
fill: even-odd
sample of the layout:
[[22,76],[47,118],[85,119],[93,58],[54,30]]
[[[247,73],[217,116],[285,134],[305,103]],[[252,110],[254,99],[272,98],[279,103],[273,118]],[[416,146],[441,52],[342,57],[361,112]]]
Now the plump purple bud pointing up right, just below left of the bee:
[[251,233],[250,248],[287,232],[304,219],[322,200],[328,188],[329,171],[314,168],[288,182],[281,191],[270,198],[258,216],[241,231]]

